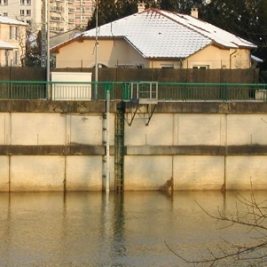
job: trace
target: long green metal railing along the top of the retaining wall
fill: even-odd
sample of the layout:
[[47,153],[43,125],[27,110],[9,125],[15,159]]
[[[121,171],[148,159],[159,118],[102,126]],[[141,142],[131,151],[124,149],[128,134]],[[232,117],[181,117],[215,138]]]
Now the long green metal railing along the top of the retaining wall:
[[263,83],[0,81],[0,99],[267,101]]

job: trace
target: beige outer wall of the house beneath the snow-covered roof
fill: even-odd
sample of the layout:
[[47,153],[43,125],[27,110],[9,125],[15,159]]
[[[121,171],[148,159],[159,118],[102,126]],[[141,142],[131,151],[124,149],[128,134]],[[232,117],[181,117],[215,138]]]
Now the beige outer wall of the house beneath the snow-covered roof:
[[[56,67],[94,67],[95,40],[69,43],[56,54]],[[209,45],[191,57],[180,59],[145,59],[122,39],[101,39],[98,41],[98,64],[106,67],[145,68],[249,68],[250,51],[246,49],[224,49]]]

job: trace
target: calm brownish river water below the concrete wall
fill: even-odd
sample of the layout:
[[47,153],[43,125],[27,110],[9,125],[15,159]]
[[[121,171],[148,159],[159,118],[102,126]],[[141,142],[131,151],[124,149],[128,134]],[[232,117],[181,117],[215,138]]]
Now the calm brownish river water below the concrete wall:
[[[240,192],[249,197],[249,192]],[[0,266],[192,266],[224,240],[251,242],[237,192],[0,193]],[[256,192],[264,200],[266,192]],[[199,205],[198,205],[199,203]],[[169,249],[170,248],[170,249]]]

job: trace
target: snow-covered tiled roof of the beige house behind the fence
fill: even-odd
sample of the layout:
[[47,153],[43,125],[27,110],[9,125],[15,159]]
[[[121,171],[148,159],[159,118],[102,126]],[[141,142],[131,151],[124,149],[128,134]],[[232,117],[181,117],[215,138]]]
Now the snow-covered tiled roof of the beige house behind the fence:
[[[95,36],[94,28],[79,38]],[[253,43],[192,16],[153,8],[98,27],[98,37],[124,38],[144,58],[185,59],[212,43],[226,48],[255,47]],[[69,42],[72,40],[51,50],[57,51]]]

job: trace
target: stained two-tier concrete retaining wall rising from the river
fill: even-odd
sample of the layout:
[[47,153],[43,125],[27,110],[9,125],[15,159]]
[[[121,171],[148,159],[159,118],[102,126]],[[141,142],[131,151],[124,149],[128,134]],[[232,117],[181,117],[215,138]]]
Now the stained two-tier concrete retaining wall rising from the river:
[[[106,184],[105,102],[2,101],[0,191],[101,191]],[[87,108],[84,109],[84,106]],[[126,105],[125,190],[267,189],[267,105],[160,103],[131,125]],[[7,112],[8,111],[8,112]],[[110,114],[110,188],[114,120]]]

